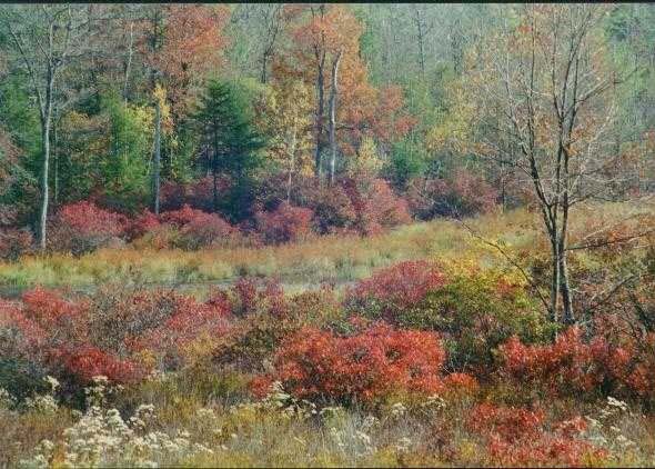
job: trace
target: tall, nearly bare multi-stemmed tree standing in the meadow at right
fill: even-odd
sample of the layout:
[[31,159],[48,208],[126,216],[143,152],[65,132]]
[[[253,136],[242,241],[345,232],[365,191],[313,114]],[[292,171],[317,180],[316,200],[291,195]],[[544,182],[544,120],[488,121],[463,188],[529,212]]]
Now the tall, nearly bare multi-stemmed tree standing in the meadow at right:
[[551,245],[550,313],[572,323],[572,208],[622,186],[611,137],[621,80],[603,60],[596,27],[604,6],[520,8],[518,24],[505,24],[471,67],[477,123],[487,129],[475,150],[517,169],[532,188]]

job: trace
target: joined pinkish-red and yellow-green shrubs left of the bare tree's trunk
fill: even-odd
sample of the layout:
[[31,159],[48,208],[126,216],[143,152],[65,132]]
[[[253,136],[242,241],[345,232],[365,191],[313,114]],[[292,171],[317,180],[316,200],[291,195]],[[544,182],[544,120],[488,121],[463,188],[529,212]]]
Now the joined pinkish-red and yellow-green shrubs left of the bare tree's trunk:
[[405,261],[359,281],[346,309],[401,328],[442,333],[454,369],[490,370],[493,349],[513,335],[530,342],[552,327],[521,283],[498,271]]

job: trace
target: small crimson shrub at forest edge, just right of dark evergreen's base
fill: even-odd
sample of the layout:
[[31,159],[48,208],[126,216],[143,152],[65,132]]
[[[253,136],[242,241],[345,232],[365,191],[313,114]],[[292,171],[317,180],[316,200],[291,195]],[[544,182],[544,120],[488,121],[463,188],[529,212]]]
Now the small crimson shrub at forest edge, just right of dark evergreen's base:
[[258,231],[269,243],[293,242],[305,239],[312,230],[310,209],[292,207],[282,202],[275,211],[260,211],[255,213]]

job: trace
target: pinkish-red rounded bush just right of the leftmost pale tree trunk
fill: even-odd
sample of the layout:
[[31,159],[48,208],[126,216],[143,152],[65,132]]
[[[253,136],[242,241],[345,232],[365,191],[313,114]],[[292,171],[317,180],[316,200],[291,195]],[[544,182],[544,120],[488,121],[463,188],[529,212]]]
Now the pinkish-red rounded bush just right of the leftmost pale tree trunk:
[[120,213],[81,201],[63,206],[50,222],[48,242],[74,255],[92,251],[125,233],[128,220]]

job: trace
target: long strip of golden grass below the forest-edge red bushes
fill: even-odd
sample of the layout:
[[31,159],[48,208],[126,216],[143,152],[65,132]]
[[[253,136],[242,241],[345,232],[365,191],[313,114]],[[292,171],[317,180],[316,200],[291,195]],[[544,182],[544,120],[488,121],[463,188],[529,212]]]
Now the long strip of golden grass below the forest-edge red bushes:
[[[584,207],[573,218],[574,238],[585,233],[591,218],[619,220],[653,212],[652,204],[606,203]],[[466,223],[484,238],[510,249],[537,246],[537,213],[514,210],[493,213]],[[575,234],[578,233],[578,234]],[[316,285],[361,279],[391,263],[422,258],[476,259],[497,262],[497,252],[484,246],[458,222],[435,220],[396,228],[369,238],[328,236],[302,243],[263,248],[182,250],[101,249],[73,258],[70,255],[29,256],[0,263],[0,286],[85,286],[128,278],[152,283],[230,281],[240,276],[272,277],[285,283]]]

